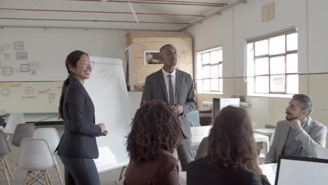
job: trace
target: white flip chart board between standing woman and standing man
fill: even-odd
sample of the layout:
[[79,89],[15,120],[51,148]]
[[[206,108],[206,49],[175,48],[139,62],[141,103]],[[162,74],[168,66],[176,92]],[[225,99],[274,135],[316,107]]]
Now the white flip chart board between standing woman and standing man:
[[106,137],[97,137],[100,155],[95,164],[98,172],[106,172],[128,165],[125,137],[130,132],[132,116],[122,60],[106,57],[90,60],[95,65],[84,85],[95,105],[96,123],[105,123],[109,131]]

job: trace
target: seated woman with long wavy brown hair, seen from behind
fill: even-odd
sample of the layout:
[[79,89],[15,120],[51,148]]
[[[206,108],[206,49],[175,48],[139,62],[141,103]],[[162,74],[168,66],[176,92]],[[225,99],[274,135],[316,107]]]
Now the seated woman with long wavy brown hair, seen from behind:
[[247,112],[228,106],[219,112],[208,137],[207,156],[189,163],[187,184],[270,184],[258,163]]

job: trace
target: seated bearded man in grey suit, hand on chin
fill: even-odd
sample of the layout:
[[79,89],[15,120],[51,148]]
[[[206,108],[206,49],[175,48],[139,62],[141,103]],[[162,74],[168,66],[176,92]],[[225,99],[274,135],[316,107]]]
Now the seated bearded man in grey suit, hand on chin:
[[326,146],[327,127],[310,118],[313,104],[307,95],[294,95],[286,108],[286,120],[279,121],[266,163],[279,156],[315,156],[315,146]]

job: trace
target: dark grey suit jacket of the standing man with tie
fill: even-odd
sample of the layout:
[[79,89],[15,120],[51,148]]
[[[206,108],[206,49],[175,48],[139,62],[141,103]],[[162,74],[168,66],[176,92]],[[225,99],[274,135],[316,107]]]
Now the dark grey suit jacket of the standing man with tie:
[[[180,71],[179,69],[176,70],[175,100],[177,104],[181,105],[184,109],[182,115],[179,116],[179,120],[182,125],[184,137],[190,138],[190,121],[186,114],[193,111],[196,107],[193,80],[190,74]],[[142,93],[142,102],[149,100],[169,101],[162,69],[146,77],[144,92]]]

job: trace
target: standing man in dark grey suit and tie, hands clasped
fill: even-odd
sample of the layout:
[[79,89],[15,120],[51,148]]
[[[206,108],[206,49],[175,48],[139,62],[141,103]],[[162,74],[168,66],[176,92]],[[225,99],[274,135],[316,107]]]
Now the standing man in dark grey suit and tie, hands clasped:
[[190,74],[175,68],[177,65],[175,46],[167,44],[160,48],[160,60],[164,64],[163,68],[146,77],[142,103],[149,100],[162,100],[168,102],[179,115],[183,139],[177,148],[177,153],[182,171],[186,171],[186,166],[193,160],[190,122],[186,117],[186,114],[196,107],[193,80]]

